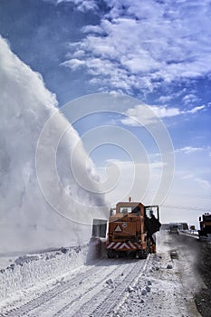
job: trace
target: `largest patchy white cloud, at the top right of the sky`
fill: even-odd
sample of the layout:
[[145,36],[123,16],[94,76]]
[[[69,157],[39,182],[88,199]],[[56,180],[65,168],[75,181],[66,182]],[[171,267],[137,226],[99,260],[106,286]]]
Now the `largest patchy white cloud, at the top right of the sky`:
[[209,1],[184,1],[177,6],[152,0],[126,0],[123,5],[120,0],[108,0],[107,4],[109,13],[100,25],[83,29],[88,34],[76,47],[85,52],[82,61],[87,71],[101,76],[105,90],[118,89],[124,81],[125,92],[152,91],[162,82],[179,82],[211,72]]

